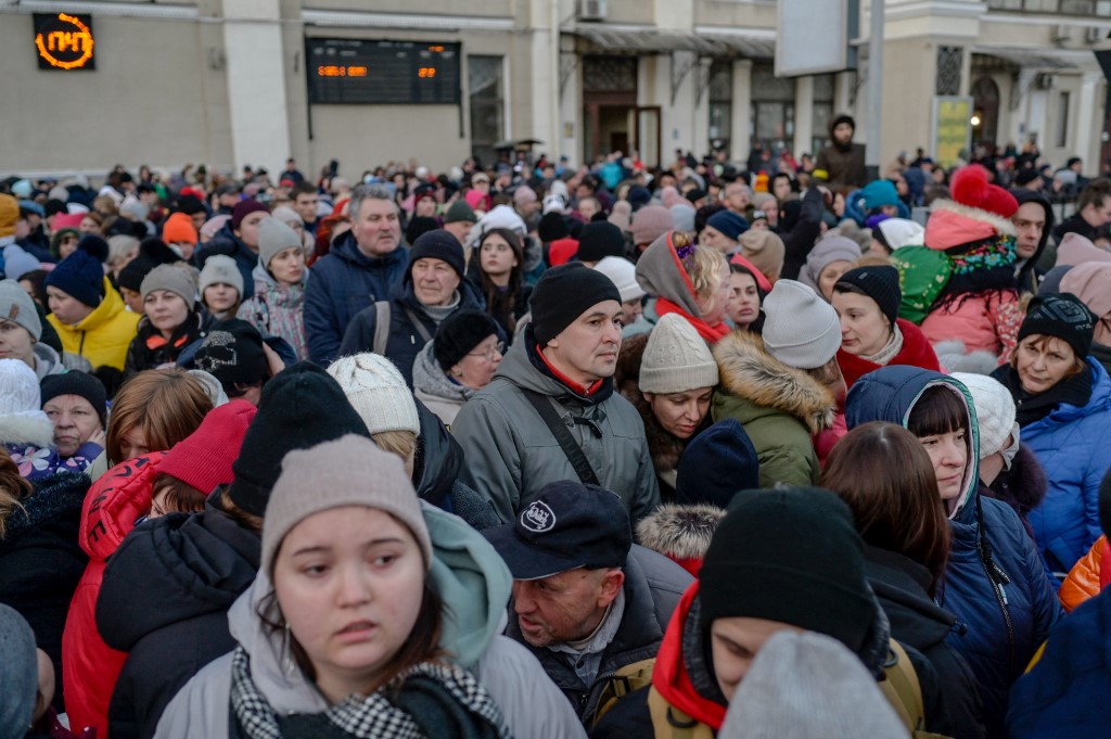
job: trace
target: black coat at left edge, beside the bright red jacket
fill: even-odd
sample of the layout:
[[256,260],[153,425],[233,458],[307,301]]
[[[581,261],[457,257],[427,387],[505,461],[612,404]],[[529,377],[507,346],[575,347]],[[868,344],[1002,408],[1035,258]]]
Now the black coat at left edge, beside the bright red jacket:
[[89,557],[78,543],[81,505],[92,481],[59,472],[8,518],[0,539],[0,603],[22,616],[54,665],[54,708],[62,705],[62,631]]

